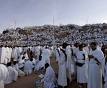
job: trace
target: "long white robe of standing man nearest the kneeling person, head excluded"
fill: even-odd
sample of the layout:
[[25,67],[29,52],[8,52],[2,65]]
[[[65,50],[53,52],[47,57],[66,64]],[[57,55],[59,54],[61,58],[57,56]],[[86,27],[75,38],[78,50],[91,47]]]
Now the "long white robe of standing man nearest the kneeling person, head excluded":
[[60,50],[60,57],[58,60],[58,85],[67,86],[67,74],[66,74],[66,57],[65,54]]

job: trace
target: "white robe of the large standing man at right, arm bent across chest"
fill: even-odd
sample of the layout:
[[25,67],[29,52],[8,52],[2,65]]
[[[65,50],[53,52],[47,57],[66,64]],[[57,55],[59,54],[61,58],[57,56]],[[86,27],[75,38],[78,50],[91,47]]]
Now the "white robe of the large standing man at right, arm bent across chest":
[[104,54],[101,50],[96,49],[90,52],[90,55],[94,56],[100,64],[98,65],[94,58],[89,61],[88,69],[88,88],[102,88],[102,72]]

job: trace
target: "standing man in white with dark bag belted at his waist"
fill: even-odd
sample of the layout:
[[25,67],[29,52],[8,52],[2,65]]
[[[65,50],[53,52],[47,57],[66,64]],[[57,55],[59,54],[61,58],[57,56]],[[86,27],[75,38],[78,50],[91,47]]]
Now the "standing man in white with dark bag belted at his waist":
[[79,88],[85,88],[88,78],[88,69],[86,69],[86,52],[83,51],[83,44],[79,45],[79,51],[76,56],[77,83],[79,84]]

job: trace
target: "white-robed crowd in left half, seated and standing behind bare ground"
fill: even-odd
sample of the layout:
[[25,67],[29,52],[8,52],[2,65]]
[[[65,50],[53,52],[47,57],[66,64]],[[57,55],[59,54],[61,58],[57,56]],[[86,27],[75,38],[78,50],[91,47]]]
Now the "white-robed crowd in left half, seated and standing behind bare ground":
[[0,51],[0,88],[50,64],[48,47],[0,47]]

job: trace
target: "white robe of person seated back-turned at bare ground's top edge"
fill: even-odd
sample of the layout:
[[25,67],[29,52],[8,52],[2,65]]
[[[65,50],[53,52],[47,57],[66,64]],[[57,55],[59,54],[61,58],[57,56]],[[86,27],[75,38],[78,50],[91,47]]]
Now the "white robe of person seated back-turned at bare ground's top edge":
[[30,60],[25,61],[24,72],[26,75],[30,75],[33,70],[33,63]]

